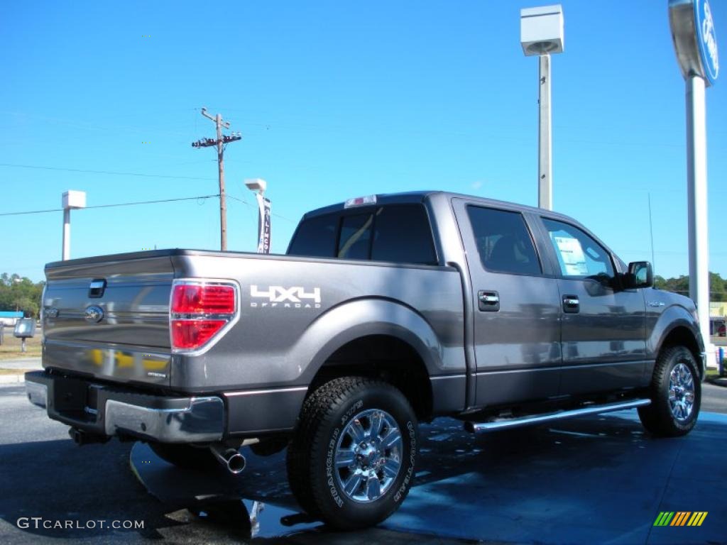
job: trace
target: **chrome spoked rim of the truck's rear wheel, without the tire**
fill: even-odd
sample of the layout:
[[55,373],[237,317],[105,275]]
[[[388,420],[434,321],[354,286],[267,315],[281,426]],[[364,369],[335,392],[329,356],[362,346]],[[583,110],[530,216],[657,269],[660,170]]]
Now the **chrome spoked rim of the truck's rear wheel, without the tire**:
[[375,501],[396,480],[401,456],[401,431],[393,416],[380,409],[362,411],[338,438],[334,470],[338,485],[353,501]]

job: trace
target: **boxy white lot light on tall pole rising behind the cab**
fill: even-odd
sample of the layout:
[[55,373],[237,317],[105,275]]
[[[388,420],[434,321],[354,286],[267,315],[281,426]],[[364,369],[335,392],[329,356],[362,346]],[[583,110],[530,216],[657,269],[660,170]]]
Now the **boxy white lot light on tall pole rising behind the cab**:
[[520,43],[526,57],[538,55],[538,206],[553,209],[553,158],[550,117],[550,55],[563,52],[560,5],[520,10]]

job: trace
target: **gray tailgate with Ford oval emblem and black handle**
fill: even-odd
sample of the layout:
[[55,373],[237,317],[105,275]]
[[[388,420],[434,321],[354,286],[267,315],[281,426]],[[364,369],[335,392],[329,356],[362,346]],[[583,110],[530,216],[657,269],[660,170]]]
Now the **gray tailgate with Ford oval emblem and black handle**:
[[169,384],[168,251],[49,263],[46,278],[44,367]]

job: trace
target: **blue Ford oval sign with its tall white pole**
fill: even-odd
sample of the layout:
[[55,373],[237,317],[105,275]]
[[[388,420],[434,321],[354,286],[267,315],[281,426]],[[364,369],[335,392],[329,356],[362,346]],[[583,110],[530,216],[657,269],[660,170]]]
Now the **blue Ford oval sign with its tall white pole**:
[[689,220],[689,296],[699,328],[710,345],[710,270],[707,243],[707,109],[704,90],[720,71],[709,0],[669,0],[669,23],[677,60],[686,80],[686,153]]

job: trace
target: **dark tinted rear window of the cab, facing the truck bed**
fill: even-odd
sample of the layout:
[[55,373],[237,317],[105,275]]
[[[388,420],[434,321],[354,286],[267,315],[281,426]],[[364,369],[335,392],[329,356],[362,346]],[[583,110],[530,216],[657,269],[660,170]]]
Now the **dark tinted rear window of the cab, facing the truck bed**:
[[390,204],[304,219],[288,255],[437,265],[422,204]]

